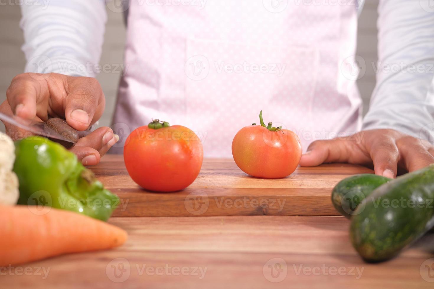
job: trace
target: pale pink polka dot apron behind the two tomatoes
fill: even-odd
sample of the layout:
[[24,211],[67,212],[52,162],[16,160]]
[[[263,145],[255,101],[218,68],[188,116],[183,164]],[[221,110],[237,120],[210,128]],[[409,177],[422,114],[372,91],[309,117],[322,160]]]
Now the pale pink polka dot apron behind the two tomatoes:
[[[360,129],[355,1],[131,0],[114,130],[152,118],[189,127],[206,157],[231,157],[242,127],[293,130],[306,151]],[[122,152],[122,144],[114,149]]]

